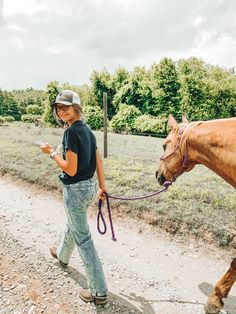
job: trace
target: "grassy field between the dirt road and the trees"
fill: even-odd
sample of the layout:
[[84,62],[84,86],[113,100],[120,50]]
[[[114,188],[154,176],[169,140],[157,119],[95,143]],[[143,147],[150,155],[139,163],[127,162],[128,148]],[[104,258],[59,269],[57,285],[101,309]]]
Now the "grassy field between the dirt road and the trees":
[[[33,142],[43,140],[57,146],[62,134],[61,129],[29,124],[1,126],[0,173],[60,192],[60,170]],[[102,153],[103,134],[95,135]],[[159,190],[155,171],[161,143],[158,138],[109,134],[108,158],[104,160],[109,193],[140,196]],[[144,201],[112,200],[112,208],[117,215],[145,220],[171,234],[236,248],[235,189],[203,166],[182,175],[160,196]]]

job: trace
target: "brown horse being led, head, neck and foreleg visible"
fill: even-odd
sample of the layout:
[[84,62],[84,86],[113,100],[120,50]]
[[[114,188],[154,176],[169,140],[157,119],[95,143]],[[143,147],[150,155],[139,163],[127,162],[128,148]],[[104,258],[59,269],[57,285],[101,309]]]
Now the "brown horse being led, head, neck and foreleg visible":
[[[160,184],[175,179],[196,164],[202,164],[236,188],[236,118],[189,123],[185,117],[178,124],[173,116],[171,129],[163,143],[156,173]],[[217,282],[205,306],[206,313],[219,313],[223,298],[236,281],[236,258],[227,273]]]

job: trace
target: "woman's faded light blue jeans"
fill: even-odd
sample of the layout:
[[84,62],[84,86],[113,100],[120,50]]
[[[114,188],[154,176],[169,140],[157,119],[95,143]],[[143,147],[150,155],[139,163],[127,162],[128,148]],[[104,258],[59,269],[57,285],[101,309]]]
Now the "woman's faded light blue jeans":
[[63,184],[67,224],[57,248],[57,256],[63,263],[68,264],[77,245],[84,263],[89,290],[93,296],[102,296],[107,294],[107,284],[87,221],[87,209],[95,195],[96,183],[92,179],[70,185]]

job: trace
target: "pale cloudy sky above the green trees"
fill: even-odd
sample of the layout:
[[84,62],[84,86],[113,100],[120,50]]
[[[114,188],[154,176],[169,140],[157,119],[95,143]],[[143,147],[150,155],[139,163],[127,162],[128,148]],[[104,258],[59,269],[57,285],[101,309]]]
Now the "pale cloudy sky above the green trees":
[[235,0],[0,0],[0,88],[191,56],[236,66]]

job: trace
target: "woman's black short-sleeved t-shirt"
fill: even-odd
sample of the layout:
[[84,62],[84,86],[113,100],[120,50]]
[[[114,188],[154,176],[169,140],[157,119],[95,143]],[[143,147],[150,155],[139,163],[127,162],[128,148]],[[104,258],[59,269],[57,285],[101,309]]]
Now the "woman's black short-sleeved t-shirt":
[[85,122],[77,120],[65,130],[62,140],[64,160],[68,149],[78,156],[77,172],[72,177],[63,171],[60,180],[68,185],[92,178],[96,170],[96,138]]

